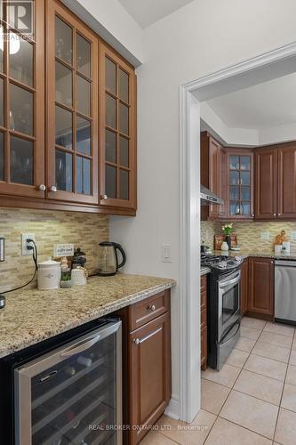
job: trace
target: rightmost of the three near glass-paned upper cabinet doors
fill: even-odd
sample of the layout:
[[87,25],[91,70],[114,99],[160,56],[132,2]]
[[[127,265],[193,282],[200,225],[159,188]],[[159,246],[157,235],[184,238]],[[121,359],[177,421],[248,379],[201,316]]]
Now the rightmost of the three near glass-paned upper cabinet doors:
[[136,209],[134,69],[100,44],[100,205]]

